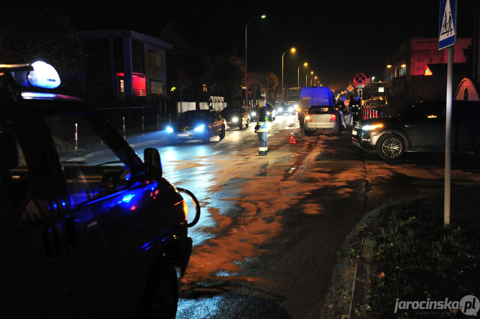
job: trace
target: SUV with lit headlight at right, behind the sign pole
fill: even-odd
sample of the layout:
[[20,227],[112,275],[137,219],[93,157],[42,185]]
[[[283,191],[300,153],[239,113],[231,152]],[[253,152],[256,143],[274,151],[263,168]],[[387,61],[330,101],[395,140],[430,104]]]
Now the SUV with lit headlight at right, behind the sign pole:
[[[479,154],[478,110],[479,101],[453,101],[452,152]],[[387,161],[400,159],[405,152],[444,152],[446,119],[445,100],[422,101],[396,116],[358,121],[352,130],[352,142]]]

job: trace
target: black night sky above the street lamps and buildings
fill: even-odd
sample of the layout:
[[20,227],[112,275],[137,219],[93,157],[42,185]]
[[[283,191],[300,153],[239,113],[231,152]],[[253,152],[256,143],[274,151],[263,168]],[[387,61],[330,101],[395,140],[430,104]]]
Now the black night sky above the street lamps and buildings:
[[[457,0],[457,37],[474,34],[473,6],[479,0]],[[248,70],[267,69],[281,83],[284,55],[285,87],[305,85],[314,71],[320,83],[345,89],[357,73],[383,80],[384,61],[409,37],[438,38],[440,0],[363,1],[190,1],[129,2],[92,9],[65,3],[65,11],[79,30],[134,30],[157,36],[169,18],[178,21],[219,54],[236,50],[245,56],[247,28]],[[161,3],[156,4],[156,3]],[[201,4],[201,5],[200,5]],[[307,68],[303,62],[308,62]],[[300,76],[298,68],[300,67]],[[310,78],[308,78],[310,85]]]

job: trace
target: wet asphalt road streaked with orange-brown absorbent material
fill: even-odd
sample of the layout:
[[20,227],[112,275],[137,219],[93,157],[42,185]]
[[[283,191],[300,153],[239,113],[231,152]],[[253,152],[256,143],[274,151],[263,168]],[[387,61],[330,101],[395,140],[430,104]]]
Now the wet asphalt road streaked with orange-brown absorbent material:
[[[305,137],[296,117],[279,116],[270,152],[255,157],[252,130],[208,145],[160,138],[164,176],[202,206],[177,318],[339,318],[348,309],[329,310],[327,296],[349,233],[385,203],[443,188],[444,155],[386,163],[349,131]],[[453,159],[452,181],[475,182],[475,160]]]

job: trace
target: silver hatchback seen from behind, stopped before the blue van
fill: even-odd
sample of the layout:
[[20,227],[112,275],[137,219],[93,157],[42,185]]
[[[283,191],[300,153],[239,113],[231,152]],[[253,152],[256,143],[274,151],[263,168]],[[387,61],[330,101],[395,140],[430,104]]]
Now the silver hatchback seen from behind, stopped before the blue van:
[[312,105],[305,114],[303,132],[310,135],[313,132],[333,130],[335,135],[340,134],[340,119],[332,105]]

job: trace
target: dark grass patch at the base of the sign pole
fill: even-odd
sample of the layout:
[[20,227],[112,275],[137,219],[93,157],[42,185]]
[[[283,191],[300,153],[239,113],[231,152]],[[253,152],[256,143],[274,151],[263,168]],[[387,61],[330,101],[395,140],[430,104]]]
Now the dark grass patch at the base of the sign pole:
[[[354,305],[358,318],[421,318],[417,310],[430,310],[410,307],[394,313],[396,298],[420,302],[480,297],[479,236],[455,220],[444,225],[443,211],[419,203],[396,204],[380,212],[366,230],[361,252],[355,251],[364,263],[358,278],[366,283],[362,303]],[[456,314],[463,318],[461,310]],[[438,318],[456,314],[454,310]]]

